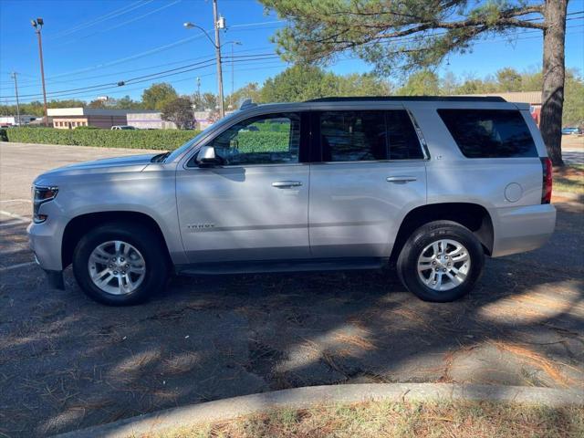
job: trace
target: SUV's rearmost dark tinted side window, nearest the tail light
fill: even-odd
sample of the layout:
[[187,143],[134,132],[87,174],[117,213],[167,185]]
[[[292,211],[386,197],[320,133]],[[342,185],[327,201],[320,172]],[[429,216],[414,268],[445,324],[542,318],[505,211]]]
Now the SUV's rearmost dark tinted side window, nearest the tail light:
[[438,110],[468,158],[537,157],[536,145],[516,110]]

